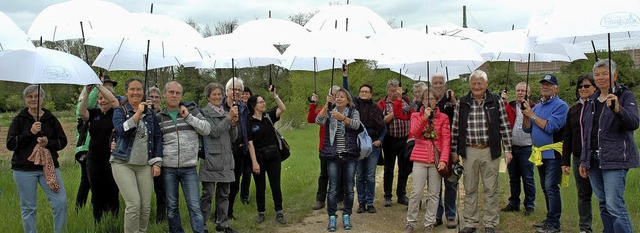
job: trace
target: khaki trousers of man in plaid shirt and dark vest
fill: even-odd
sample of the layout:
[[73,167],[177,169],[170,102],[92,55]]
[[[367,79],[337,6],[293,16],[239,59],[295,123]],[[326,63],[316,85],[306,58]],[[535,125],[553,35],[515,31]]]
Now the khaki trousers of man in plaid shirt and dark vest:
[[467,147],[464,166],[464,210],[463,227],[477,227],[480,221],[478,212],[478,183],[482,179],[484,187],[484,225],[497,227],[500,222],[498,213],[498,167],[500,159],[491,159],[489,148],[475,149]]

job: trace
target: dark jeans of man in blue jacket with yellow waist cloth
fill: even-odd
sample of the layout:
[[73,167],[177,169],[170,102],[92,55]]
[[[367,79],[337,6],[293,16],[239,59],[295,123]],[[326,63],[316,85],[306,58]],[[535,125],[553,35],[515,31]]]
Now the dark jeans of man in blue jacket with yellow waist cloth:
[[547,204],[546,222],[555,228],[560,228],[562,202],[560,201],[560,179],[562,176],[562,162],[560,159],[543,159],[538,167],[540,185]]

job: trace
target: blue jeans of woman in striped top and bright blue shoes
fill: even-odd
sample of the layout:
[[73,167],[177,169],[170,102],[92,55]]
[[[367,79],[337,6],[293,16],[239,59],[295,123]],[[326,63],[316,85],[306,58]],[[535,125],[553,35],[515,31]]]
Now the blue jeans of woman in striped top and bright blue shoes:
[[353,210],[353,183],[356,175],[357,157],[327,158],[327,175],[329,176],[329,195],[327,213],[336,215],[338,211],[338,180],[344,185],[344,209],[343,214],[351,215]]

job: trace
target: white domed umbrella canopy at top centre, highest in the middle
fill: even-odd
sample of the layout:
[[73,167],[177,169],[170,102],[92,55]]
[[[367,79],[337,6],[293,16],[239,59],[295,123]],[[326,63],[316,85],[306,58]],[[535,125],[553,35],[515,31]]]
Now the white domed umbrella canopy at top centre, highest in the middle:
[[304,27],[310,31],[348,31],[365,37],[391,30],[391,26],[380,15],[358,5],[322,8]]

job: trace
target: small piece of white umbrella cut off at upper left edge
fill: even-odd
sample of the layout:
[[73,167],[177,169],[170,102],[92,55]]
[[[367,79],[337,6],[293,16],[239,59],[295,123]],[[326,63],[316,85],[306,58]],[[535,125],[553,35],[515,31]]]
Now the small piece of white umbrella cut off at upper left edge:
[[0,12],[0,31],[2,31],[0,33],[0,50],[34,47],[27,34],[2,12]]

